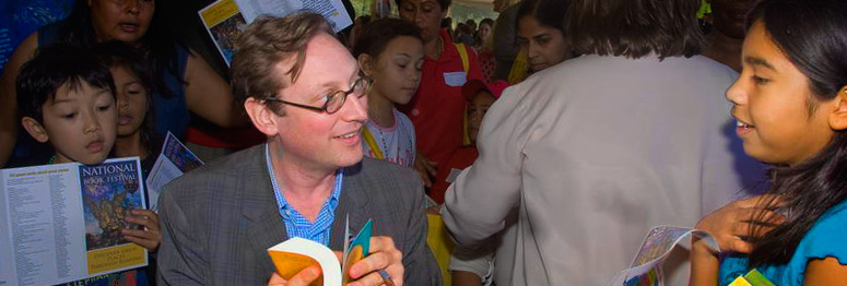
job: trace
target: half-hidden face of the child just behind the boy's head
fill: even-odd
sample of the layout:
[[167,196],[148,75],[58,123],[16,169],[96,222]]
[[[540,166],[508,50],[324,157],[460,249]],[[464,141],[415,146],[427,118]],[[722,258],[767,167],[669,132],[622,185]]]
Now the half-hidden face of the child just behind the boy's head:
[[139,132],[148,112],[148,91],[127,67],[109,69],[115,78],[118,97],[118,136]]

